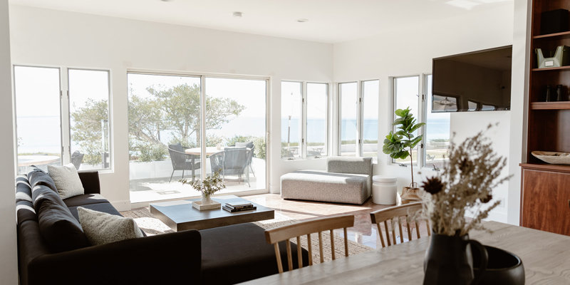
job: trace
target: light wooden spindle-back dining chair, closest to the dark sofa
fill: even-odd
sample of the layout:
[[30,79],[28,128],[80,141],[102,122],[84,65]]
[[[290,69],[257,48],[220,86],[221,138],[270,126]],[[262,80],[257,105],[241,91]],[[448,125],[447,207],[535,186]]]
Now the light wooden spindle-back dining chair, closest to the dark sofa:
[[[279,252],[279,242],[286,241],[287,250],[287,265],[289,271],[293,269],[293,258],[291,257],[291,244],[288,242],[291,238],[296,238],[297,252],[301,252],[301,236],[307,236],[307,247],[309,251],[309,265],[313,265],[313,249],[311,245],[311,234],[318,233],[318,252],[321,257],[321,263],[323,259],[323,234],[322,232],[328,231],[331,234],[331,256],[332,259],[336,259],[335,247],[334,247],[334,229],[344,230],[344,255],[348,257],[348,235],[346,233],[346,228],[354,226],[354,216],[351,214],[345,214],[337,217],[323,217],[316,219],[309,219],[304,222],[298,222],[295,224],[287,224],[282,227],[276,227],[274,229],[265,230],[265,239],[267,243],[273,244],[275,247],[275,257],[277,259],[277,268],[279,273],[283,273],[283,264],[281,264],[281,252]],[[303,261],[301,259],[301,254],[297,254],[299,268],[303,266]]]

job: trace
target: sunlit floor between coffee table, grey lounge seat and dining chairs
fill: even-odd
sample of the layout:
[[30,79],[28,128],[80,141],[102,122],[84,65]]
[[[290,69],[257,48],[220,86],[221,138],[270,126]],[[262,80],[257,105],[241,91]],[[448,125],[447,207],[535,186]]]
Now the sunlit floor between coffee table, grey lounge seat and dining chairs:
[[[340,204],[328,202],[312,202],[300,200],[286,200],[281,199],[279,194],[263,194],[242,197],[265,207],[273,208],[276,215],[283,215],[290,219],[310,219],[315,217],[331,217],[340,214],[353,214],[354,227],[348,229],[348,239],[358,242],[359,244],[366,245],[372,248],[382,247],[380,239],[378,238],[378,230],[376,226],[371,223],[370,213],[377,209],[384,209],[387,207],[380,204],[374,204],[372,199],[368,199],[362,205],[353,204]],[[342,234],[342,230],[339,231]],[[422,237],[425,236],[424,232],[420,232]],[[404,234],[404,238],[407,237]]]

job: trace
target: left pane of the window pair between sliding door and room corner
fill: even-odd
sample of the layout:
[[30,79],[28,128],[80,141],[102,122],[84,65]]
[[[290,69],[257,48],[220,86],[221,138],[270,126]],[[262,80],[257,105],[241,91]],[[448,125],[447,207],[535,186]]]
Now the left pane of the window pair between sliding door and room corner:
[[300,82],[281,82],[281,157],[301,157],[301,98]]

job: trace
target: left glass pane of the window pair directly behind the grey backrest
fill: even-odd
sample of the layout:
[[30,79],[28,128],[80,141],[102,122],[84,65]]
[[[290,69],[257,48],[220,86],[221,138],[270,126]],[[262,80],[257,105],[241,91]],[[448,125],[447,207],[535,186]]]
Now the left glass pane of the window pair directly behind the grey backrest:
[[356,82],[340,83],[341,100],[341,155],[356,156],[358,129],[356,122],[358,114],[358,86]]

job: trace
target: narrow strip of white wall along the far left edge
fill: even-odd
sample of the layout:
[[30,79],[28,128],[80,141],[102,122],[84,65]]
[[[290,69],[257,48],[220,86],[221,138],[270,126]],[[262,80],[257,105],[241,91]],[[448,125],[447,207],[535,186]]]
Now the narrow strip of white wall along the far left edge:
[[14,109],[12,108],[8,0],[0,1],[0,284],[18,284],[14,208]]

